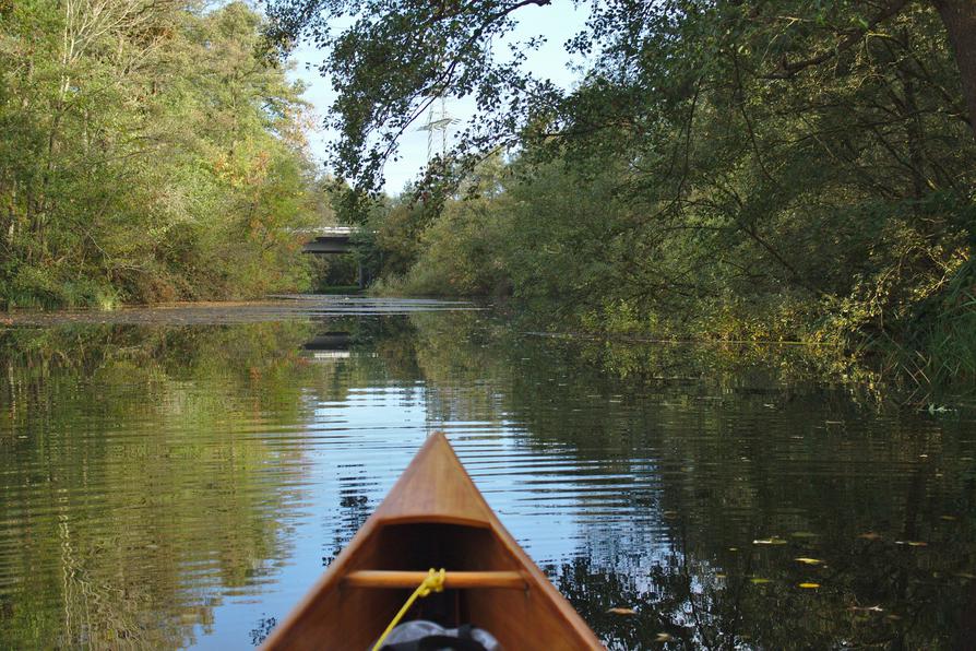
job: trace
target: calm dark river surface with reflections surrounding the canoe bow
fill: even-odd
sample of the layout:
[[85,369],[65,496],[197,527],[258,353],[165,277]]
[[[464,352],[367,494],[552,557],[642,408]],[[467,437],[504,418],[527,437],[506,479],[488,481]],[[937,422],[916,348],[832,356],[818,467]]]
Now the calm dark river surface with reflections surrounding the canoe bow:
[[0,330],[0,648],[259,643],[433,429],[611,649],[976,643],[972,407],[460,303],[67,320]]

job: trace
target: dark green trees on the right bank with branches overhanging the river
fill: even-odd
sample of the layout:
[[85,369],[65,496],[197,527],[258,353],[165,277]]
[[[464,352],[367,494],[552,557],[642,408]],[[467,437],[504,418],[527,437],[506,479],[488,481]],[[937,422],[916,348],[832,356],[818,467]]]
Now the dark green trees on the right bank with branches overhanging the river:
[[[543,92],[487,46],[514,5],[378,2],[319,39],[359,190],[390,151],[369,134],[432,90],[481,109],[418,203],[374,211],[397,240],[377,248],[400,252],[382,289],[512,294],[558,330],[894,348],[919,378],[972,378],[963,4],[597,2],[568,46],[593,55],[584,79]],[[352,10],[276,5],[285,32],[318,25],[299,5]],[[368,63],[401,38],[393,64]],[[498,144],[517,145],[508,165],[472,164]]]

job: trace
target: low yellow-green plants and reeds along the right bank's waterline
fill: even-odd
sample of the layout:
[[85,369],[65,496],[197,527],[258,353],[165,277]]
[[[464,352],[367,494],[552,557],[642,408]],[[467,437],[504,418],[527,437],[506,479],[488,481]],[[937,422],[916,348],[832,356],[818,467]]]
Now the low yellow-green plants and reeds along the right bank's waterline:
[[[381,285],[380,295],[396,286]],[[976,394],[976,300],[971,292],[935,295],[920,303],[916,318],[888,331],[872,327],[873,317],[833,300],[819,306],[707,301],[694,315],[642,313],[627,301],[588,310],[544,298],[495,301],[521,332],[538,336],[796,348],[825,381],[858,384],[901,403],[927,406]]]

